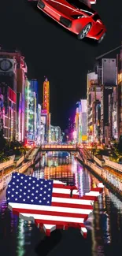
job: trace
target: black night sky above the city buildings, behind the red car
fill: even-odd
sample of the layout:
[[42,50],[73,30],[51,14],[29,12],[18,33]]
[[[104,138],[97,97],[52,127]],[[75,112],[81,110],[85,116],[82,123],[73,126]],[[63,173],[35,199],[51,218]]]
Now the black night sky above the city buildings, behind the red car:
[[[95,57],[120,45],[122,36],[121,0],[98,0],[92,6],[107,28],[104,41],[79,41],[54,20],[30,6],[27,0],[0,3],[0,45],[20,50],[28,65],[28,79],[39,80],[42,102],[43,77],[50,80],[51,124],[66,128],[68,117],[79,98],[86,98],[87,71]],[[115,57],[115,54],[110,57]]]

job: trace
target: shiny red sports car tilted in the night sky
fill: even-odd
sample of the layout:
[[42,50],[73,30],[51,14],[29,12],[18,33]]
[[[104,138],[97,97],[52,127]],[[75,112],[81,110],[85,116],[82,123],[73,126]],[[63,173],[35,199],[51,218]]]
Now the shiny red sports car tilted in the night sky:
[[78,39],[88,37],[101,43],[106,33],[105,25],[98,13],[87,6],[85,1],[39,0],[37,7],[57,23],[75,33]]

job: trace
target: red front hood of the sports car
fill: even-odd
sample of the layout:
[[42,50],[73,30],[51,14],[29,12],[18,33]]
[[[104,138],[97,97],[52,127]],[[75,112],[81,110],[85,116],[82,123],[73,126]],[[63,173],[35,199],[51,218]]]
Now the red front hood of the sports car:
[[93,9],[85,5],[83,2],[81,2],[82,9],[77,9],[75,6],[69,4],[66,0],[45,0],[45,2],[68,17],[79,14],[91,17],[95,13]]

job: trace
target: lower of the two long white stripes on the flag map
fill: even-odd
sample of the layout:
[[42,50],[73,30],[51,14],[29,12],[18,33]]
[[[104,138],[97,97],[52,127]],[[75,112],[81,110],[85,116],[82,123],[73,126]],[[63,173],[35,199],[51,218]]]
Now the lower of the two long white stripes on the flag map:
[[62,221],[70,223],[83,223],[84,218],[79,217],[63,217],[63,216],[50,216],[50,215],[41,215],[41,214],[31,214],[31,213],[20,213],[20,217],[29,217],[30,219],[35,220],[44,220],[44,221]]

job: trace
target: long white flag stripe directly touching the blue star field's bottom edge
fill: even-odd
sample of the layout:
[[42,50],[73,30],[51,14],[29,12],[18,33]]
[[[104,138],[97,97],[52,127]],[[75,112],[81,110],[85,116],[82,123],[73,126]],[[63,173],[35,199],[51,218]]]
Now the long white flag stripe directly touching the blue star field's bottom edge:
[[9,203],[10,208],[16,209],[25,209],[25,210],[45,210],[50,212],[59,212],[59,213],[80,213],[80,214],[90,214],[93,210],[89,209],[76,209],[76,208],[67,208],[67,207],[58,207],[58,206],[37,206],[30,204],[20,204],[11,202]]

